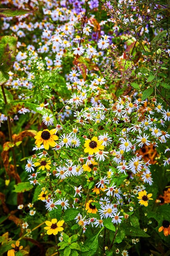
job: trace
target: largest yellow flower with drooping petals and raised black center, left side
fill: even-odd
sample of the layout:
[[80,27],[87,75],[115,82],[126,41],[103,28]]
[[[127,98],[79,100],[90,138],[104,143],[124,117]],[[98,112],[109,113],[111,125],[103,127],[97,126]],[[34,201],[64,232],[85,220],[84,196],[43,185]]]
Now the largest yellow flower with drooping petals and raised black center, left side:
[[38,134],[34,137],[35,140],[35,144],[36,145],[44,145],[45,149],[49,149],[49,145],[52,147],[55,147],[55,140],[58,139],[58,136],[55,135],[54,133],[56,132],[55,129],[53,130],[48,130],[45,129],[43,131],[38,132]]

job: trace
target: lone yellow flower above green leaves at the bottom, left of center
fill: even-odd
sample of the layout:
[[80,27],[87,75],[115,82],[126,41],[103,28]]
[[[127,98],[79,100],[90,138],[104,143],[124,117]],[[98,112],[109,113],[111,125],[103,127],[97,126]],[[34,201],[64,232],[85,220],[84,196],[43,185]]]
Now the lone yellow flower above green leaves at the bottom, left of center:
[[57,219],[52,219],[51,221],[46,221],[45,224],[47,227],[44,227],[44,229],[47,230],[47,235],[57,235],[58,232],[62,231],[64,228],[62,227],[64,223],[64,220],[60,220],[57,222]]

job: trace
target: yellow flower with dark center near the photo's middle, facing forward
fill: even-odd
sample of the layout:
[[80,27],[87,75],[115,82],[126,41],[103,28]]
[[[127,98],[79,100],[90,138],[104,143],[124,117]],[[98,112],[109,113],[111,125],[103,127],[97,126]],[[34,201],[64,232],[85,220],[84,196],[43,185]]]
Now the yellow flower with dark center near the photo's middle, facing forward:
[[93,155],[101,149],[104,149],[102,146],[103,140],[98,140],[97,137],[93,137],[91,140],[87,139],[84,143],[84,152]]

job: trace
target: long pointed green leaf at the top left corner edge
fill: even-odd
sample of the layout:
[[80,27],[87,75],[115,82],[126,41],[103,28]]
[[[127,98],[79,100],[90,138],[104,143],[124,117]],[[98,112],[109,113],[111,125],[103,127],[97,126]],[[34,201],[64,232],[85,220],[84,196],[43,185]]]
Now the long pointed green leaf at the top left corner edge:
[[[35,10],[36,11],[36,10]],[[24,15],[26,13],[32,13],[32,10],[16,9],[16,8],[0,8],[0,18],[8,18],[13,16]]]

